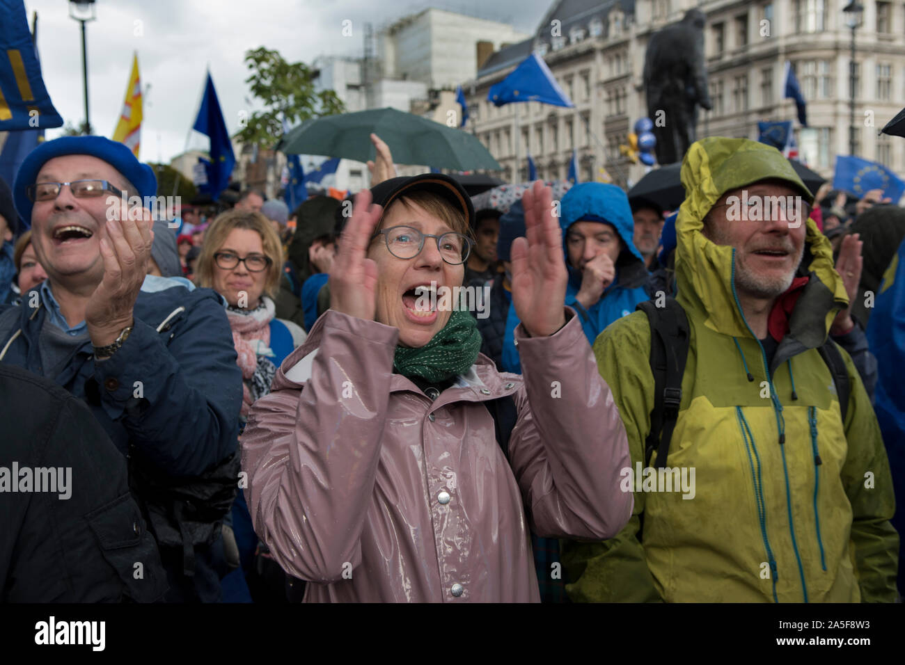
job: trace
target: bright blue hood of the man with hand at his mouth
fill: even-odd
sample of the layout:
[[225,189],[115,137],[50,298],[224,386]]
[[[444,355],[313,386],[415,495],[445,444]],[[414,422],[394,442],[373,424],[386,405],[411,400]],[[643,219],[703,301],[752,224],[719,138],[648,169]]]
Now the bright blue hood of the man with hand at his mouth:
[[[590,219],[588,219],[590,217]],[[572,187],[562,198],[559,213],[559,227],[563,234],[563,252],[566,248],[568,227],[581,221],[611,224],[624,242],[624,249],[616,260],[618,270],[617,286],[633,289],[643,284],[647,269],[641,252],[634,246],[634,221],[632,208],[624,191],[616,185],[604,183],[582,183]],[[576,280],[575,269],[569,268],[569,277]],[[581,280],[577,280],[581,283]]]

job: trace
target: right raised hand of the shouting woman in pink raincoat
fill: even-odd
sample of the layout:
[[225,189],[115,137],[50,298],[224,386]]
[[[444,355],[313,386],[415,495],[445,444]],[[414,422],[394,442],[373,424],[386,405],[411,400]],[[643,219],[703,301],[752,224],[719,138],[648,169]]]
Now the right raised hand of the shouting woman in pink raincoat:
[[566,324],[566,257],[553,212],[553,190],[539,180],[521,197],[525,238],[512,243],[512,301],[531,337],[552,335]]

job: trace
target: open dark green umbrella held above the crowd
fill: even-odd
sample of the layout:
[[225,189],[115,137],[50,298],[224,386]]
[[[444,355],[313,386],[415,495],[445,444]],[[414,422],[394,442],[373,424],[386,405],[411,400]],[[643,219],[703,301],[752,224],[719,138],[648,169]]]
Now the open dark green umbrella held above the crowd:
[[396,109],[371,109],[305,120],[283,136],[277,149],[288,155],[326,155],[367,162],[376,155],[372,133],[390,147],[396,164],[457,171],[502,170],[472,134]]

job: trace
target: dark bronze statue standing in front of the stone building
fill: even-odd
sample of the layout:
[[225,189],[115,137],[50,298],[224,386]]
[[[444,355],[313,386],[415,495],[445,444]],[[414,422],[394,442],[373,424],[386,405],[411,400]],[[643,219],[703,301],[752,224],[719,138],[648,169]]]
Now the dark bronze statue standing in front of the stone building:
[[711,108],[704,65],[705,20],[700,9],[690,9],[681,22],[654,33],[647,44],[644,94],[660,164],[685,156],[696,138],[698,106]]

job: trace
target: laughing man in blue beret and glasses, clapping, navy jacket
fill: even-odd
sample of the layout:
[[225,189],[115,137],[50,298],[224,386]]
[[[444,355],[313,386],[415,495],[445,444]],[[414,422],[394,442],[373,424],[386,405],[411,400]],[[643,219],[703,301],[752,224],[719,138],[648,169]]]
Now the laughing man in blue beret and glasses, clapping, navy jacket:
[[123,196],[148,201],[157,179],[128,147],[101,137],[47,141],[25,158],[13,190],[48,279],[21,306],[0,310],[0,362],[89,405],[129,458],[130,487],[167,568],[167,599],[217,601],[212,548],[222,546],[239,484],[242,403],[222,302],[175,280],[142,288],[152,222]]

